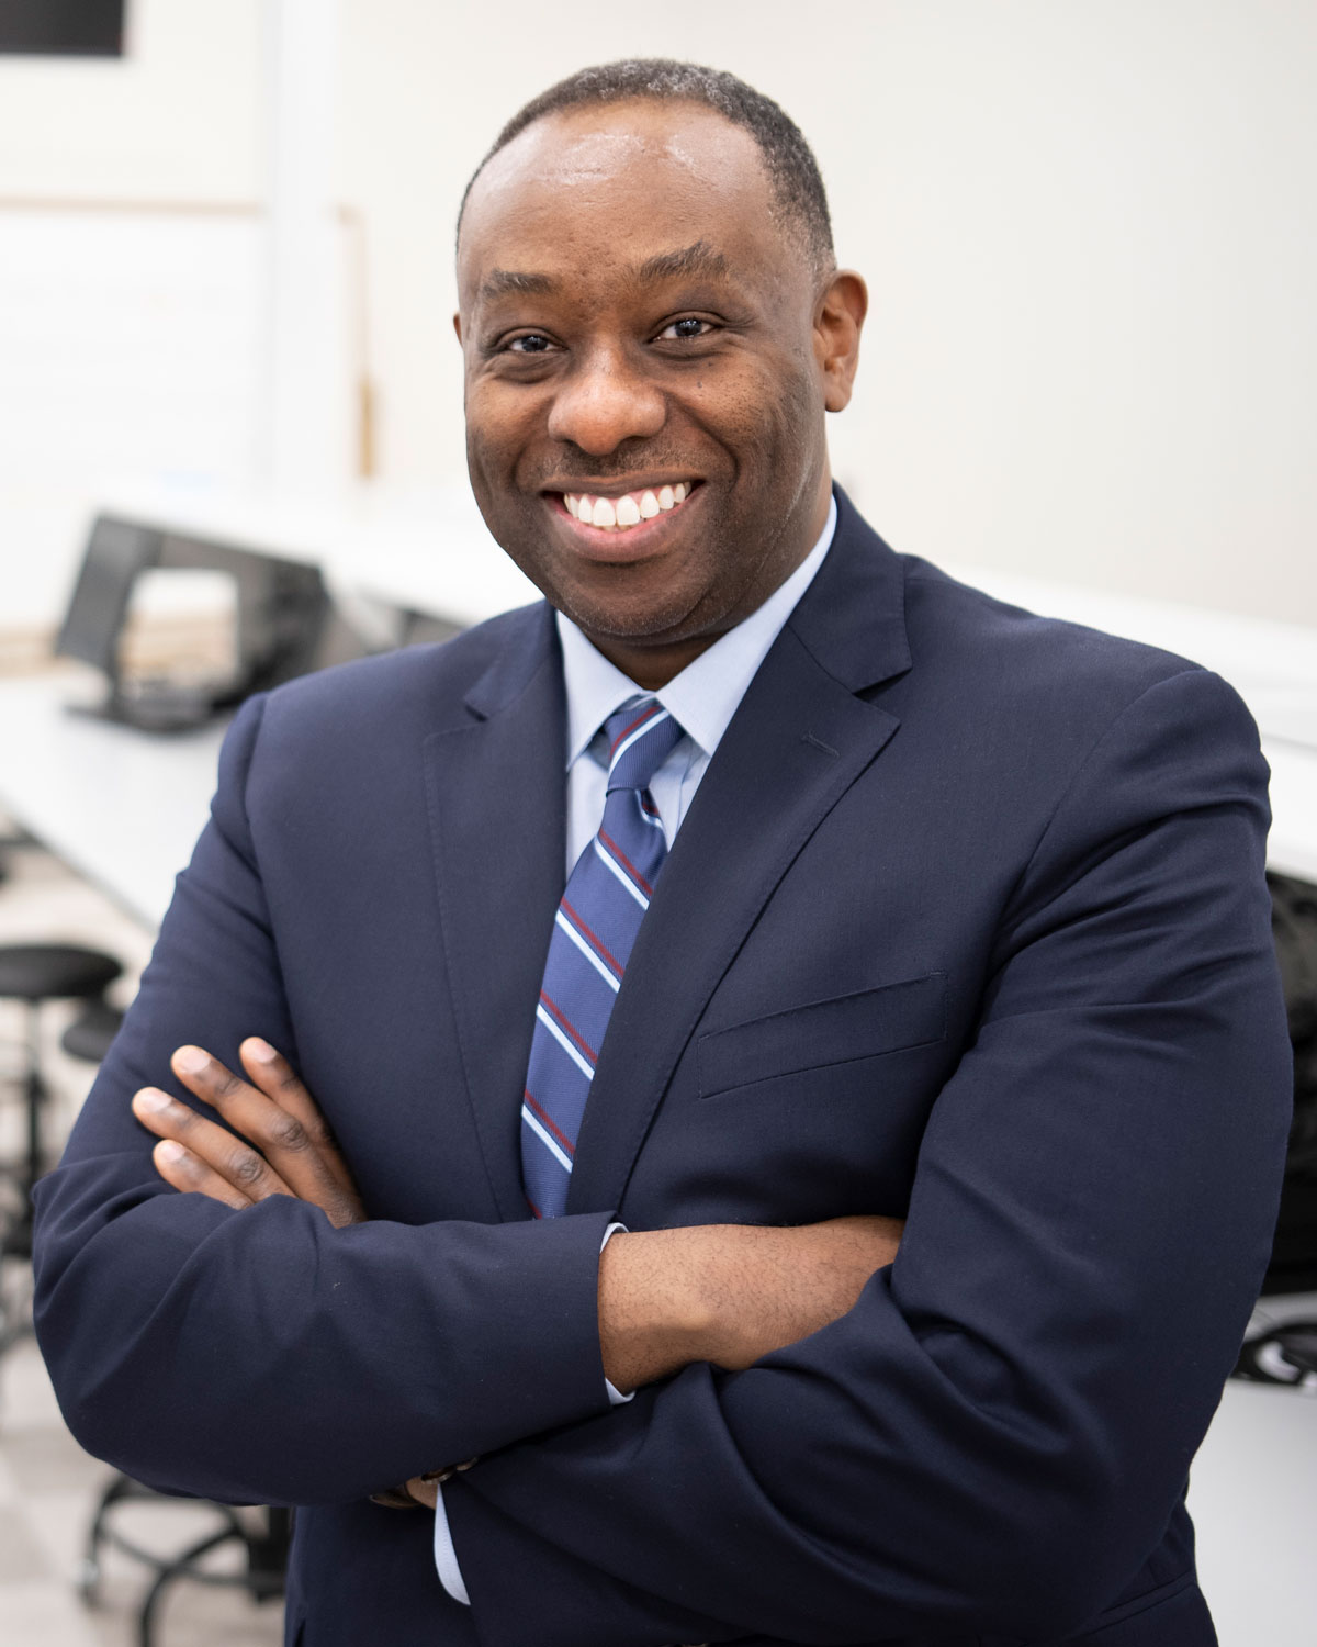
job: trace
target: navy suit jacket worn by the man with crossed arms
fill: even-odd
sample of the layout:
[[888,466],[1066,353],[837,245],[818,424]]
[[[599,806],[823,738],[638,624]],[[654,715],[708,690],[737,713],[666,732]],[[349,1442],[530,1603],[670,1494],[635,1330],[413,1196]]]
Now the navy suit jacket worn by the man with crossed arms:
[[[40,1186],[38,1326],[91,1451],[303,1507],[303,1647],[1213,1640],[1182,1500],[1291,1079],[1256,731],[1215,675],[988,600],[838,501],[663,870],[558,1220],[527,1215],[517,1120],[563,886],[550,609],[229,735]],[[153,1173],[130,1094],[247,1034],[293,1056],[370,1222]],[[853,1212],[909,1222],[849,1314],[607,1410],[611,1217]],[[471,1611],[430,1517],[367,1502],[469,1454]]]

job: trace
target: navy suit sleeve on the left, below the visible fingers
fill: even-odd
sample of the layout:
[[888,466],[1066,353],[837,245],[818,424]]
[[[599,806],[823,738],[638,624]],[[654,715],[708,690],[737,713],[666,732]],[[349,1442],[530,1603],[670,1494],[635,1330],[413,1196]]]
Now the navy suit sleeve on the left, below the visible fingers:
[[38,1186],[36,1327],[95,1456],[173,1492],[337,1502],[607,1410],[607,1217],[334,1230],[290,1197],[234,1212],[156,1176],[128,1100],[156,1084],[194,1102],[176,1046],[234,1069],[247,1034],[296,1052],[244,809],[262,710],[226,741],[140,995]]

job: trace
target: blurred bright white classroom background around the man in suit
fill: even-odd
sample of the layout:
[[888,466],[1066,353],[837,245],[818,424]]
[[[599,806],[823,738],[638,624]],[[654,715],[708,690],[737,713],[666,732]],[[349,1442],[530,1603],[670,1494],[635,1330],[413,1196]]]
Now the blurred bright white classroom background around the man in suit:
[[280,1639],[258,1509],[128,1495],[133,1550],[89,1551],[112,1477],[23,1331],[28,1179],[224,713],[533,593],[464,484],[454,214],[525,99],[632,54],[733,69],[810,138],[873,298],[835,471],[889,542],[1197,657],[1259,720],[1301,1118],[1190,1502],[1225,1647],[1310,1629],[1312,0],[0,0],[0,1640],[138,1640],[212,1532],[198,1573],[242,1583],[170,1578],[156,1640]]

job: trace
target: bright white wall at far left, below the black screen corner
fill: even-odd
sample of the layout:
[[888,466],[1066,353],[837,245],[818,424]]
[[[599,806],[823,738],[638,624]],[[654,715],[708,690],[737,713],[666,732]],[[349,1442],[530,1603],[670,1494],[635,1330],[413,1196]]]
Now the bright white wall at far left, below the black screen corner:
[[59,618],[117,473],[258,456],[262,3],[128,0],[123,59],[0,58],[0,629]]

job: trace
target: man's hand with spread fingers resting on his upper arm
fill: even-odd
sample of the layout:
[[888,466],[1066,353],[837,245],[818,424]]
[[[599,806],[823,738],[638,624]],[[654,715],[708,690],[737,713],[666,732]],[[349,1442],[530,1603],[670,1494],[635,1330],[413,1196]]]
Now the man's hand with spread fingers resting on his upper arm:
[[181,1046],[171,1066],[240,1138],[158,1087],[133,1094],[133,1115],[161,1140],[151,1155],[156,1173],[175,1189],[226,1207],[295,1196],[318,1206],[336,1229],[364,1224],[352,1174],[291,1064],[258,1036],[244,1041],[239,1056],[247,1080],[199,1046]]

